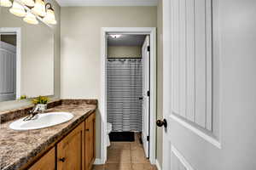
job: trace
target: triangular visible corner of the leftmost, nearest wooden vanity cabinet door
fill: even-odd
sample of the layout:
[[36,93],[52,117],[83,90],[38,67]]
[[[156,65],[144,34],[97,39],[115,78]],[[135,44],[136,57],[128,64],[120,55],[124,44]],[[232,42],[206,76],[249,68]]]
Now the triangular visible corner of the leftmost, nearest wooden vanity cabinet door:
[[29,170],[55,170],[55,147],[41,157]]

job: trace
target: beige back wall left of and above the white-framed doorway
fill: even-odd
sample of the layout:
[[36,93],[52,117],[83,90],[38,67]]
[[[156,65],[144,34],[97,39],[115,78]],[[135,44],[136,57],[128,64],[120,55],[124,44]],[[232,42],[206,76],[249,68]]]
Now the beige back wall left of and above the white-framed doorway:
[[[101,28],[156,27],[156,7],[61,8],[61,98],[100,99]],[[96,157],[100,157],[100,114]]]

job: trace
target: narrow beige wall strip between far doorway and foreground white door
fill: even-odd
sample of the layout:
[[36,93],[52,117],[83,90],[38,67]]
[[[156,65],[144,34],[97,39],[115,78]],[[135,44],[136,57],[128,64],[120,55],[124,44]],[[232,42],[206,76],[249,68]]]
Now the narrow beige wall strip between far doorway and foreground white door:
[[[157,119],[163,118],[163,10],[162,0],[157,6]],[[156,130],[156,159],[162,165],[163,131]]]

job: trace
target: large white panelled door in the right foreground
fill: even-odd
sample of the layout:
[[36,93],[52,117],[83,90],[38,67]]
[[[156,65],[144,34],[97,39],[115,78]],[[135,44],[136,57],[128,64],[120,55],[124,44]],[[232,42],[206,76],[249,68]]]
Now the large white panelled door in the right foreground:
[[255,8],[163,1],[163,170],[256,169]]

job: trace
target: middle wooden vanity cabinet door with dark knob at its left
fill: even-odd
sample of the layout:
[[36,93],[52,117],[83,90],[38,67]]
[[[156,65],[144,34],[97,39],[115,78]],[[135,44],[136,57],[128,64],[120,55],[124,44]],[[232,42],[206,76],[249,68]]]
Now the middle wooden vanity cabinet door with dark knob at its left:
[[58,170],[84,170],[84,122],[57,144]]

